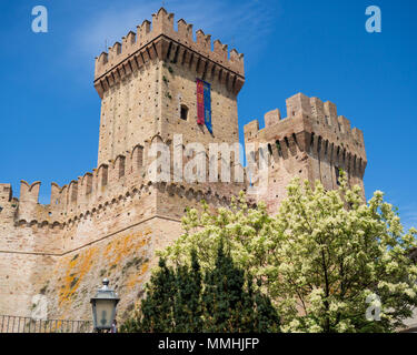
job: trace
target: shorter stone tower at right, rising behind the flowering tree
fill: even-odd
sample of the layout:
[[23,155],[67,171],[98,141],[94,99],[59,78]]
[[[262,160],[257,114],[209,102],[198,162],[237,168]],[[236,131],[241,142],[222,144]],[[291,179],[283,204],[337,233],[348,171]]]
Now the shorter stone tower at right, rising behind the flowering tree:
[[[257,160],[265,156],[266,189],[257,196],[267,203],[270,213],[278,211],[286,196],[286,186],[294,176],[311,183],[321,181],[327,190],[337,189],[339,169],[347,173],[350,185],[364,192],[367,164],[364,133],[351,129],[350,122],[337,114],[336,105],[298,93],[287,100],[287,118],[279,110],[265,114],[265,128],[258,120],[245,125],[245,143],[255,144]],[[365,196],[365,192],[364,192]]]

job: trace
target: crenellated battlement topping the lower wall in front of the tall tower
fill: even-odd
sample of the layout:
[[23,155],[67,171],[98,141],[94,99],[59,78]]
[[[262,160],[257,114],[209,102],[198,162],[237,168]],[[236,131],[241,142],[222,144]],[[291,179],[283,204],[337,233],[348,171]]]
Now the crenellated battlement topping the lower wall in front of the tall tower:
[[[149,149],[152,142],[157,140],[170,148],[171,156],[171,182],[157,182],[153,179],[155,171],[150,168],[153,159],[148,159]],[[39,181],[29,184],[21,181],[20,199],[17,200],[18,212],[16,223],[18,225],[38,225],[62,229],[69,222],[79,220],[83,215],[98,211],[111,201],[119,201],[120,197],[131,195],[133,192],[155,186],[159,191],[180,196],[188,195],[188,201],[195,202],[207,199],[219,205],[226,205],[231,195],[237,195],[240,190],[245,190],[245,170],[236,156],[230,156],[230,181],[234,181],[236,174],[242,176],[240,183],[209,182],[209,156],[206,159],[206,182],[176,182],[173,170],[172,142],[162,141],[159,135],[146,141],[145,146],[138,144],[126,154],[118,155],[108,164],[100,164],[92,172],[87,172],[82,176],[72,180],[69,184],[59,186],[51,183],[50,204],[39,204]],[[182,146],[182,165],[185,166],[191,158],[187,156]],[[218,155],[218,172],[222,172],[222,156]],[[161,189],[161,186],[163,189]],[[187,192],[187,193],[186,193]],[[0,201],[11,201],[12,192],[10,184],[0,184]],[[181,213],[183,212],[183,209]]]

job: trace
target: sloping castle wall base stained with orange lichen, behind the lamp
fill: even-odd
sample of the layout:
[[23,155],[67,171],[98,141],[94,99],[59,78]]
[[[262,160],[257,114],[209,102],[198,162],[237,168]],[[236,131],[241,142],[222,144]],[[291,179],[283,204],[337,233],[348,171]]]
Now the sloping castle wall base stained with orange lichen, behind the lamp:
[[149,272],[157,263],[155,251],[180,235],[180,222],[151,217],[57,258],[37,280],[43,288],[50,317],[90,320],[90,297],[108,277],[120,295],[118,317],[125,317],[143,294]]

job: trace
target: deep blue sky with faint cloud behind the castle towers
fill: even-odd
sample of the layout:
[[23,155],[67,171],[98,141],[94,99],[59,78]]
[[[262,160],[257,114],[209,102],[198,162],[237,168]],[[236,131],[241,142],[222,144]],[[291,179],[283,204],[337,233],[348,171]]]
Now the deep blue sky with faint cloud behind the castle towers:
[[[49,11],[49,32],[31,31],[31,10]],[[60,185],[97,163],[100,99],[93,60],[151,19],[162,1],[37,0],[0,3],[0,182]],[[383,32],[365,30],[368,6]],[[168,11],[245,53],[240,136],[247,122],[297,92],[332,101],[365,133],[365,189],[417,225],[417,2],[414,0],[172,0]]]

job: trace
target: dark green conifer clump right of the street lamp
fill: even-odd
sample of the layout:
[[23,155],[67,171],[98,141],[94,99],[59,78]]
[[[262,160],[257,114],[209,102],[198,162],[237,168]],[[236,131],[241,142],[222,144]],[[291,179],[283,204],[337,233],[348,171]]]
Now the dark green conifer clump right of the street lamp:
[[220,243],[216,266],[203,277],[196,252],[191,252],[191,266],[171,268],[161,258],[140,311],[120,331],[247,333],[278,328],[279,317],[270,300],[254,292],[251,277],[234,265]]

